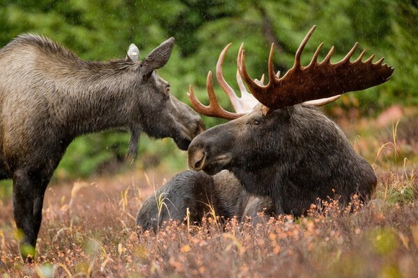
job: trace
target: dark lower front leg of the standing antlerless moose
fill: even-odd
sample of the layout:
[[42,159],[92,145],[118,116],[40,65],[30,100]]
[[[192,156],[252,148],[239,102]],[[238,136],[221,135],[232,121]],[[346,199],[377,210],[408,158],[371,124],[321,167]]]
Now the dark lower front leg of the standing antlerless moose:
[[17,170],[13,174],[13,214],[17,229],[23,233],[20,254],[24,261],[31,262],[35,256],[36,233],[33,219],[33,197],[36,179],[29,172]]

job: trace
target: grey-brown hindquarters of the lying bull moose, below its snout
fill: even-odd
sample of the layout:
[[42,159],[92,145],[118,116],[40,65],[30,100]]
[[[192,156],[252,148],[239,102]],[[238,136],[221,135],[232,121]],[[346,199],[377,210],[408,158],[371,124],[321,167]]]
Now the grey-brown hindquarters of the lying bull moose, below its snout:
[[137,225],[144,231],[157,231],[164,221],[185,221],[187,208],[193,224],[199,224],[211,209],[221,220],[236,216],[242,222],[249,217],[253,223],[262,220],[260,213],[274,212],[270,199],[247,193],[229,171],[213,177],[203,171],[185,171],[145,200],[137,215]]

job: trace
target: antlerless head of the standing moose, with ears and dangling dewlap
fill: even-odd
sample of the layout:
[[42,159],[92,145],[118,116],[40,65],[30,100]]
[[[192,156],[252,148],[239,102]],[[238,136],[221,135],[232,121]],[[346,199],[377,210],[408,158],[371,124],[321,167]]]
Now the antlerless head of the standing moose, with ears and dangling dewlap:
[[178,147],[187,150],[192,139],[205,129],[199,115],[170,93],[170,85],[158,76],[156,70],[164,66],[173,49],[174,38],[162,42],[143,61],[139,61],[139,50],[131,44],[127,60],[139,65],[137,72],[141,77],[138,83],[138,101],[131,105],[137,107],[138,120],[131,127],[132,138],[128,155],[130,160],[137,155],[139,133],[144,131],[153,138],[171,137]]

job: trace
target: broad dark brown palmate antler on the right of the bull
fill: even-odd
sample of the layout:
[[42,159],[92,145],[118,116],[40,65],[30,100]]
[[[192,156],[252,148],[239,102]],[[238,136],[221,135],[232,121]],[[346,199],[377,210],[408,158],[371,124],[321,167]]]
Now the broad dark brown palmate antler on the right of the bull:
[[[313,26],[300,44],[295,54],[295,62],[291,70],[279,78],[280,72],[274,74],[273,69],[273,45],[268,58],[269,82],[263,85],[251,79],[245,68],[245,50],[240,49],[238,57],[238,70],[247,83],[252,95],[270,109],[277,109],[313,99],[330,98],[341,95],[344,92],[364,90],[389,80],[393,67],[382,65],[384,58],[372,63],[374,55],[362,62],[365,50],[359,57],[350,62],[351,56],[357,48],[358,42],[348,52],[343,60],[338,63],[330,63],[334,47],[331,48],[325,59],[318,63],[318,55],[323,43],[316,49],[311,63],[307,67],[300,65],[300,56],[316,26]],[[329,100],[331,100],[330,98]]]

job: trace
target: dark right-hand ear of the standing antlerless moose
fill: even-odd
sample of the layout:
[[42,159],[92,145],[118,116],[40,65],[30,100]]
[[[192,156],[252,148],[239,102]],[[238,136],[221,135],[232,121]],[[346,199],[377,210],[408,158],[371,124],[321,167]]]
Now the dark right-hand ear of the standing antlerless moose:
[[174,38],[169,38],[156,47],[141,63],[141,74],[144,76],[167,64],[173,50]]

